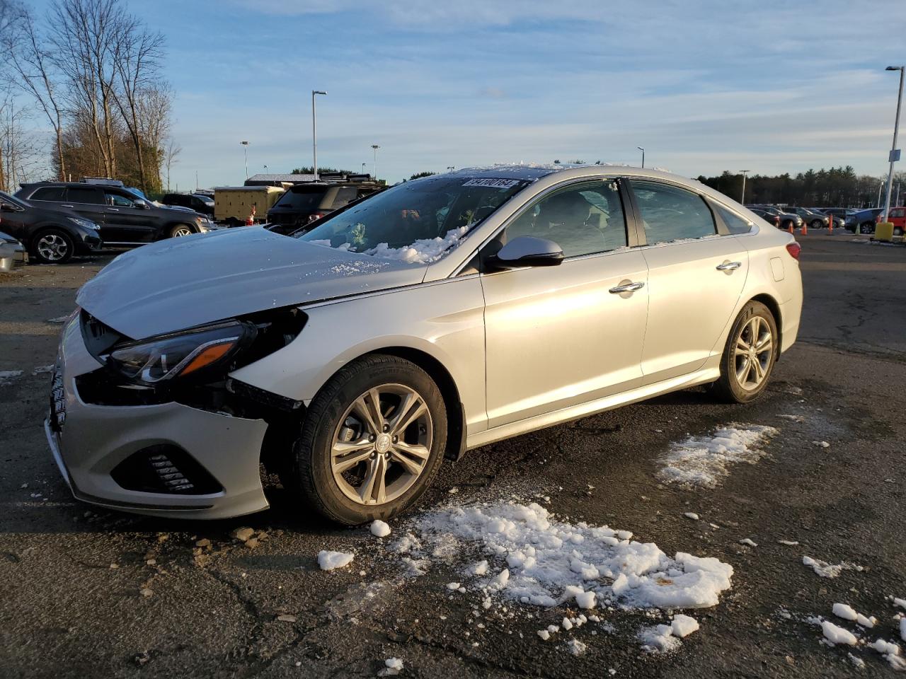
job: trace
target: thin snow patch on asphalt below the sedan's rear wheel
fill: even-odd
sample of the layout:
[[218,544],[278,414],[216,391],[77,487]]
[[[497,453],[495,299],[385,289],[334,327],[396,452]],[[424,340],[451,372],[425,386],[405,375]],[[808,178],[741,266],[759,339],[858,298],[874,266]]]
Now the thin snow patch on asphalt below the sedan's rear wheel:
[[728,425],[713,436],[690,436],[670,446],[661,458],[664,466],[658,478],[687,487],[714,488],[729,475],[730,464],[755,464],[765,454],[761,446],[776,433],[773,426]]

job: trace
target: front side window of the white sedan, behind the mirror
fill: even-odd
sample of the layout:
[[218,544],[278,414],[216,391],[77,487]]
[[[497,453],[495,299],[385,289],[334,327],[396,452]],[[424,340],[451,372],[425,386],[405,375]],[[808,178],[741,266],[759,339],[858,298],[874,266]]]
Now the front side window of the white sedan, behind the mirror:
[[554,241],[567,257],[625,246],[626,220],[616,180],[584,182],[539,200],[506,227],[506,241],[520,235]]

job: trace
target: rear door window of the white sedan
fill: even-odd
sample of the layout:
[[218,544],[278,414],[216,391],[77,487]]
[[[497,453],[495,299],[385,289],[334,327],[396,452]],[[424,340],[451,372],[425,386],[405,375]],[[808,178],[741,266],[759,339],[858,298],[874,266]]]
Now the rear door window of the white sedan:
[[649,244],[714,235],[717,228],[704,198],[679,186],[633,181],[632,192]]

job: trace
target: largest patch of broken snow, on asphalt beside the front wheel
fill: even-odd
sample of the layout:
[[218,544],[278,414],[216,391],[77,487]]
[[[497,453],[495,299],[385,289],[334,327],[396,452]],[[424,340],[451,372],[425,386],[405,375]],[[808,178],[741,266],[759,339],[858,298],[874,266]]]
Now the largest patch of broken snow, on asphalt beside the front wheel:
[[598,602],[711,607],[733,575],[733,568],[718,559],[683,552],[670,559],[656,544],[631,540],[629,531],[554,521],[535,502],[485,502],[429,512],[414,530],[418,535],[410,532],[393,549],[437,559],[477,546],[496,565],[480,569],[489,577],[475,569],[474,588],[533,606],[575,600],[583,608]]

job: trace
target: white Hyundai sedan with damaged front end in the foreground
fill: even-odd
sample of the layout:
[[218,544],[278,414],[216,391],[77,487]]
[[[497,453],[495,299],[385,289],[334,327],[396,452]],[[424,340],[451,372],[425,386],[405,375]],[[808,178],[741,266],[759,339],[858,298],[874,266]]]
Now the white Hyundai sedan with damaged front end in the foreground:
[[467,449],[695,385],[758,397],[796,338],[799,252],[657,170],[426,177],[294,236],[121,254],[78,293],[45,431],[86,502],[255,512],[264,461],[308,511],[386,519]]

